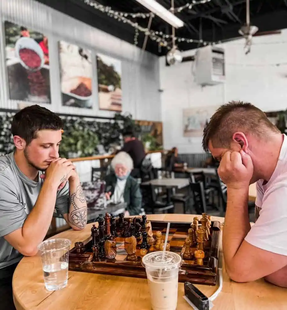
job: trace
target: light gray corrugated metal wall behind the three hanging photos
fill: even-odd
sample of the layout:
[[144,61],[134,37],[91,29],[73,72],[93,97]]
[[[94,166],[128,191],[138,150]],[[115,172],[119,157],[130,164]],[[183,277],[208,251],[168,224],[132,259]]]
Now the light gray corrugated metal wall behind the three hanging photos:
[[[156,56],[32,0],[0,0],[0,12],[2,108],[17,109],[18,104],[15,100],[8,100],[3,27],[4,21],[8,20],[41,31],[48,37],[52,104],[43,106],[54,112],[113,116],[114,112],[98,109],[95,56],[96,53],[103,53],[122,62],[123,113],[129,112],[135,119],[161,121],[159,62]],[[59,40],[66,40],[93,51],[93,111],[62,106]]]

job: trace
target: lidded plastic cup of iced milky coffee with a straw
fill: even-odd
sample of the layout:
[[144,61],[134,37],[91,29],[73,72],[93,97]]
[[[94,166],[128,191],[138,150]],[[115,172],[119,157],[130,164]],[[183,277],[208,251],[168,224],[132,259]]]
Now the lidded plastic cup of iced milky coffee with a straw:
[[143,257],[142,264],[147,273],[152,309],[175,310],[180,255],[174,252],[151,252]]

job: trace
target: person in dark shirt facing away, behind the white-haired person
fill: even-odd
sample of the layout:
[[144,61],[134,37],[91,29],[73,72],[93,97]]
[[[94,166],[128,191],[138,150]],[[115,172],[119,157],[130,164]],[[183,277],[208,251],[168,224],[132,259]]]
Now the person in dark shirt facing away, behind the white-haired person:
[[134,136],[134,132],[131,128],[126,129],[124,133],[124,141],[125,144],[121,151],[128,153],[134,163],[134,169],[130,174],[134,178],[140,178],[141,164],[146,155],[143,142]]

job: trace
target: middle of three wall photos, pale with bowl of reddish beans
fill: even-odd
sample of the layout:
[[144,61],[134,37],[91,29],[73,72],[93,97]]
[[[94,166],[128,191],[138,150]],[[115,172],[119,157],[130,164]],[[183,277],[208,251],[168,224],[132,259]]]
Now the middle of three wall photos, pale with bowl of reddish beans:
[[59,42],[62,105],[92,109],[92,52]]

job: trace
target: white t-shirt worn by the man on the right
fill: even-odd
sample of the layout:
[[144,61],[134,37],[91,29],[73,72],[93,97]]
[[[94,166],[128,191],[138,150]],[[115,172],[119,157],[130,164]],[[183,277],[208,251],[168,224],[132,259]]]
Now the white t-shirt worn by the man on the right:
[[257,248],[287,256],[287,136],[270,180],[257,181],[256,222],[245,240]]

